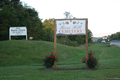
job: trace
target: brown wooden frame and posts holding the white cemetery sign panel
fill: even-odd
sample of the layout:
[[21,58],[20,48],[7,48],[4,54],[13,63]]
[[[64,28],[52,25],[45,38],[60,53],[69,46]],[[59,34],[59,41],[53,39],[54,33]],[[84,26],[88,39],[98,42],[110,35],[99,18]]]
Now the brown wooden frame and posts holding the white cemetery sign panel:
[[[56,36],[60,36],[56,34],[56,21],[57,20],[85,20],[85,29],[86,29],[86,34],[72,34],[72,35],[86,35],[86,59],[88,59],[88,18],[78,18],[78,19],[54,19],[54,55],[55,58],[57,56],[57,51],[56,51]],[[71,35],[71,34],[64,34],[64,35]],[[56,68],[57,62],[54,62],[54,68]],[[88,64],[86,61],[86,68],[88,68]]]

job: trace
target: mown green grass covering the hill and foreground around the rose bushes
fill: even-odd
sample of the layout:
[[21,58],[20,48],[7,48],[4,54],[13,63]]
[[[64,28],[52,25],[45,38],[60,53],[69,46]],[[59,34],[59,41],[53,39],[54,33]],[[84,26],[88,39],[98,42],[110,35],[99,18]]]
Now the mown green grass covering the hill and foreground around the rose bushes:
[[[0,80],[118,80],[120,79],[120,48],[92,44],[100,66],[97,70],[42,71],[42,58],[54,51],[54,44],[45,41],[1,41]],[[85,68],[81,59],[85,47],[57,44],[57,68]]]

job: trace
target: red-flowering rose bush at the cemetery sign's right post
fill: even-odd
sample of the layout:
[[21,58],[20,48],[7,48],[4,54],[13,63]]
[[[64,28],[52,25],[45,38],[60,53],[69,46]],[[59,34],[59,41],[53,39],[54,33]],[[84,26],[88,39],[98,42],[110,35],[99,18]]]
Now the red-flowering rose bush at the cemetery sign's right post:
[[88,68],[96,68],[98,67],[100,64],[98,64],[98,60],[94,57],[95,52],[92,52],[92,50],[90,50],[90,53],[88,53],[88,59],[86,58],[82,58],[83,63],[88,64]]

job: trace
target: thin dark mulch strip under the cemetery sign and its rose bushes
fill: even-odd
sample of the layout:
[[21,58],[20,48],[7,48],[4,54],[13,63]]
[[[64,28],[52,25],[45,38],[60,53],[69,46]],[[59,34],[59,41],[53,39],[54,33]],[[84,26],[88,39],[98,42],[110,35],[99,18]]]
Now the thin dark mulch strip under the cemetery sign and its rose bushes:
[[90,69],[90,68],[44,68],[44,69],[40,69],[43,71],[46,70],[97,70],[97,69]]

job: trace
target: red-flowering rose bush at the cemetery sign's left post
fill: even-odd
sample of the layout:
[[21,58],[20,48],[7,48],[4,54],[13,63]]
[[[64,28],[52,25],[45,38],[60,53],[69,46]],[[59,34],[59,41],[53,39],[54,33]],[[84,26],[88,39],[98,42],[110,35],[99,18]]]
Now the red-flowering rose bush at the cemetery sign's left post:
[[52,68],[54,65],[54,62],[57,61],[57,58],[54,56],[53,52],[51,53],[50,56],[42,58],[43,60],[43,66],[46,68]]

